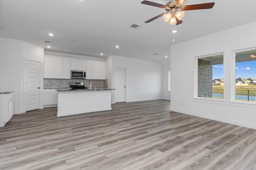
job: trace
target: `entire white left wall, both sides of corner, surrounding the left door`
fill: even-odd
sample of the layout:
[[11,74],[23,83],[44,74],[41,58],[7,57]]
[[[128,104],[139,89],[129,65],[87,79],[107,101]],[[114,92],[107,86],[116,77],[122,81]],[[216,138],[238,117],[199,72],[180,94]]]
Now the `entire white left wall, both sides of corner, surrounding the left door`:
[[24,113],[26,110],[24,105],[25,58],[43,61],[44,48],[20,40],[0,39],[0,91],[14,91],[14,114]]

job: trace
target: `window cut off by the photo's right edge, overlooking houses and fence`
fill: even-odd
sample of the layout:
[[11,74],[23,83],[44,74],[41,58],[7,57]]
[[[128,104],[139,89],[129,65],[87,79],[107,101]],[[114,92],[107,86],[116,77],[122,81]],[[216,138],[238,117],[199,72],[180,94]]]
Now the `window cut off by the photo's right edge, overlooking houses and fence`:
[[256,102],[256,49],[235,53],[235,100]]

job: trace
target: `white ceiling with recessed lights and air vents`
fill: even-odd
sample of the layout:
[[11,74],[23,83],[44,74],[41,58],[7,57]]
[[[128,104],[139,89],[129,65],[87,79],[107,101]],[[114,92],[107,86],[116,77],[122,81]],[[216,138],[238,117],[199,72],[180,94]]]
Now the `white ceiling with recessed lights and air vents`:
[[[207,2],[215,2],[215,6],[185,11],[180,25],[169,25],[162,17],[144,23],[165,10],[141,1],[0,0],[0,37],[44,48],[47,44],[43,41],[51,41],[46,51],[93,57],[104,53],[103,57],[117,55],[170,64],[170,45],[256,21],[255,0],[244,4],[241,0],[186,0],[183,6]],[[152,2],[165,5],[168,0]],[[134,29],[132,24],[141,27]],[[178,30],[174,37],[172,29]]]

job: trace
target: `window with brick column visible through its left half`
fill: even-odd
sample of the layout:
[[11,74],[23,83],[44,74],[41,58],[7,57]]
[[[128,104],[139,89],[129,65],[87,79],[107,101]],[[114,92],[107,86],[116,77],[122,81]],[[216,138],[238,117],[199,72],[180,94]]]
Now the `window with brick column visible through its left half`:
[[197,60],[197,96],[223,99],[223,54]]

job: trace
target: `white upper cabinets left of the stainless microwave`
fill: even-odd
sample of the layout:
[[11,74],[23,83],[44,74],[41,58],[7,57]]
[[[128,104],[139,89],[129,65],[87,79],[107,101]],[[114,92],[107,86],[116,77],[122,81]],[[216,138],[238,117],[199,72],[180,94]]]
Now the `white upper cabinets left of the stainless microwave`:
[[66,57],[44,56],[44,78],[70,79],[70,64]]

